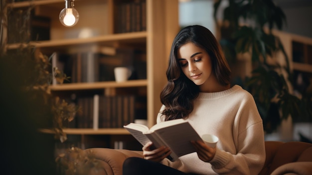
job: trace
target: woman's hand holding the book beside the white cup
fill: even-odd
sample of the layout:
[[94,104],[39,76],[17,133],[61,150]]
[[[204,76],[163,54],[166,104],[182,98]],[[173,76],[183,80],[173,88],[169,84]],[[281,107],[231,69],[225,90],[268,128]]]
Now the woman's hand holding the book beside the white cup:
[[207,146],[203,141],[191,141],[191,144],[197,152],[197,156],[204,162],[210,162],[216,154],[216,148]]

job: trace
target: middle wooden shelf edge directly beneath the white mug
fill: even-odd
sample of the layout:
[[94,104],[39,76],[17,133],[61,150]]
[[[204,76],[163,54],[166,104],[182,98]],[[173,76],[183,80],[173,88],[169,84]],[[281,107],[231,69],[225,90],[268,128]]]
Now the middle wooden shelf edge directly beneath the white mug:
[[105,81],[94,83],[69,83],[50,86],[51,91],[66,90],[87,90],[87,89],[104,89],[104,88],[123,88],[123,87],[141,87],[147,86],[147,80],[128,80],[125,82]]

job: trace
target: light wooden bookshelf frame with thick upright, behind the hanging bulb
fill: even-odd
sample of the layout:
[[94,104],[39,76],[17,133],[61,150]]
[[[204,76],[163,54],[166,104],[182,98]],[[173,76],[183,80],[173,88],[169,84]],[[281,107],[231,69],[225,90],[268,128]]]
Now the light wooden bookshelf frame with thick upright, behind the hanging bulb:
[[[50,40],[31,41],[43,54],[53,52],[90,51],[93,48],[115,47],[135,48],[146,52],[146,79],[129,80],[117,83],[103,81],[92,83],[66,83],[50,86],[52,93],[71,94],[74,91],[103,90],[105,95],[136,93],[147,98],[147,120],[151,127],[161,107],[159,94],[165,82],[165,70],[170,47],[175,34],[179,31],[178,0],[143,0],[146,16],[143,19],[146,28],[141,31],[120,33],[119,6],[135,0],[75,0],[75,8],[80,19],[73,27],[61,25],[59,12],[64,8],[64,0],[29,0],[7,4],[7,9],[32,7],[35,15],[49,17]],[[87,36],[80,36],[87,29]],[[4,31],[8,33],[9,31]],[[7,44],[7,49],[17,49],[26,43]],[[118,89],[118,90],[117,90]],[[133,94],[132,94],[133,95]],[[50,130],[42,130],[51,133]],[[69,135],[129,135],[123,128],[72,128],[64,129]],[[86,136],[87,135],[87,136]]]

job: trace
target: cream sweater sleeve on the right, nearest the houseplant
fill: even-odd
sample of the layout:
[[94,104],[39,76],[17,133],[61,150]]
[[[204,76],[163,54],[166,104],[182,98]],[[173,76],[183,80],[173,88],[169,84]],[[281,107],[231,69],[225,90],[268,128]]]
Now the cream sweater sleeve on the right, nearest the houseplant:
[[262,119],[253,98],[242,106],[233,126],[237,153],[216,151],[210,164],[217,174],[258,175],[263,168],[266,154]]

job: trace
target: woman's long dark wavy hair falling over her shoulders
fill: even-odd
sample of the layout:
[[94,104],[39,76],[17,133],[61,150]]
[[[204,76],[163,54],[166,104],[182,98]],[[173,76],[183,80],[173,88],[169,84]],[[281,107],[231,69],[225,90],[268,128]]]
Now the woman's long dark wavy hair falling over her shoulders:
[[193,111],[193,100],[199,94],[199,86],[183,73],[177,60],[178,49],[192,42],[207,51],[212,64],[212,72],[221,85],[230,84],[231,70],[221,50],[221,46],[209,29],[200,25],[191,25],[181,29],[175,36],[166,71],[167,84],[160,93],[160,101],[165,105],[162,115],[165,121],[186,119]]

